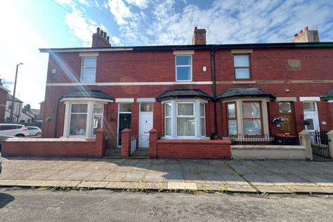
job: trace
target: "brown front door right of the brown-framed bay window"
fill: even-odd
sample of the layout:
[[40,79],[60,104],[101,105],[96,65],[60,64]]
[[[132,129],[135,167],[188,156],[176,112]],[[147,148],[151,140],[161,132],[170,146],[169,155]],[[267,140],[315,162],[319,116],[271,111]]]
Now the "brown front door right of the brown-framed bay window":
[[293,114],[292,102],[280,102],[279,103],[280,117],[282,117],[282,131],[283,133],[296,135],[295,121]]

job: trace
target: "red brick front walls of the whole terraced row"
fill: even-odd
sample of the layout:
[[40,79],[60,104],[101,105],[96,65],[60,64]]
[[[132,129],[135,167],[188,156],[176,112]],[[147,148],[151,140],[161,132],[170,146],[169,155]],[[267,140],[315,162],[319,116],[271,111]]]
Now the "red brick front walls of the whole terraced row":
[[[245,47],[245,46],[244,46]],[[234,58],[232,49],[218,49],[215,56],[216,94],[234,87],[259,87],[276,97],[295,97],[293,101],[296,133],[304,129],[302,121],[303,107],[301,96],[321,96],[333,88],[333,49],[332,47],[291,48],[246,46],[253,51],[250,54],[250,76],[248,80],[234,78]],[[96,85],[83,85],[86,89],[102,89],[103,92],[117,98],[133,98],[131,131],[139,132],[138,98],[155,98],[170,88],[197,88],[213,95],[212,57],[210,49],[194,49],[192,56],[192,81],[186,84],[176,82],[175,55],[173,50],[123,50],[99,51],[96,66]],[[179,49],[178,49],[179,51]],[[300,69],[288,69],[288,60],[300,60]],[[61,137],[64,129],[65,105],[60,102],[63,95],[80,87],[66,85],[80,82],[81,58],[79,52],[54,52],[49,56],[46,94],[43,115],[43,137]],[[206,71],[203,71],[206,67]],[[56,74],[52,74],[56,69]],[[54,84],[59,85],[54,85]],[[65,83],[65,84],[64,84]],[[103,83],[103,84],[100,84]],[[126,83],[126,84],[125,84]],[[133,83],[133,85],[130,85]],[[286,92],[286,89],[288,89]],[[333,128],[333,103],[317,101],[320,128]],[[153,103],[153,128],[164,135],[164,112],[160,101]],[[214,102],[205,106],[206,136],[215,131]],[[273,119],[279,116],[277,101],[268,103],[269,133],[282,133]],[[51,121],[45,121],[49,117]],[[104,105],[104,124],[108,136],[108,146],[116,146],[118,103]],[[226,106],[216,102],[216,123],[218,138],[228,136]],[[160,140],[159,140],[160,141]],[[188,145],[189,142],[185,144]],[[159,142],[167,148],[164,142]],[[197,143],[196,146],[204,146]],[[184,144],[181,146],[185,146]],[[182,155],[187,155],[184,151]],[[204,155],[199,152],[196,155]],[[220,153],[224,155],[225,153]],[[228,156],[225,154],[225,156]],[[196,157],[194,155],[194,157]]]

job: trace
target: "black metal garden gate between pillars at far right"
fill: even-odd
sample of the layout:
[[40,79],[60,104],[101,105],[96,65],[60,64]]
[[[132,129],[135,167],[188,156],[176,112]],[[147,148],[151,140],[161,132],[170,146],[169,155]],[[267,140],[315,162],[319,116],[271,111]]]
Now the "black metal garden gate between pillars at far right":
[[311,148],[314,155],[330,158],[330,148],[328,147],[328,136],[325,131],[315,131],[311,133]]

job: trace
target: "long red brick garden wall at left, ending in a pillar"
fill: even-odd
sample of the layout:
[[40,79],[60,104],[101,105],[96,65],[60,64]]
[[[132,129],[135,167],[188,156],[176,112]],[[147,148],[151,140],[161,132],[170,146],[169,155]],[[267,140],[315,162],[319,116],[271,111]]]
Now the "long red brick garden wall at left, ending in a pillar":
[[102,157],[104,138],[103,130],[96,131],[96,139],[10,138],[2,142],[1,155]]

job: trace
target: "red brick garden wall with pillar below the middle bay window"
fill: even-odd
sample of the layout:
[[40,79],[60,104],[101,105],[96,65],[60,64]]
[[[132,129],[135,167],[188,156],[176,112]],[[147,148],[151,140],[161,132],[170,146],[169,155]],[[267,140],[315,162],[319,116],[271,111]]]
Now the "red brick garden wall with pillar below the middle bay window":
[[149,157],[180,159],[230,158],[230,140],[157,139],[157,130],[150,131]]

